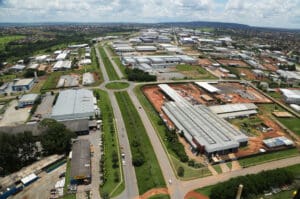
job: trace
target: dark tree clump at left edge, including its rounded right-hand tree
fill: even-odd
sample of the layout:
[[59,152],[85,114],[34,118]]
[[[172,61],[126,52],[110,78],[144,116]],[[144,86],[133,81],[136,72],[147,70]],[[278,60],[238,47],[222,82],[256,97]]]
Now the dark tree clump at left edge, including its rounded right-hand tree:
[[[63,124],[44,119],[39,128],[40,136],[32,132],[19,134],[0,133],[0,175],[7,175],[32,164],[39,157],[52,154],[68,153],[71,149],[71,138],[76,134]],[[42,150],[38,149],[41,143]]]

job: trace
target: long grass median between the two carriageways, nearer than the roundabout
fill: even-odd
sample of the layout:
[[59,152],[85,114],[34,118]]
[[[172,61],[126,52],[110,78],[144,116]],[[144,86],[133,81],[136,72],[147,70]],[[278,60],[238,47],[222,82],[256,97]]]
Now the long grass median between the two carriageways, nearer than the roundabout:
[[144,154],[145,162],[135,167],[140,195],[152,188],[165,187],[166,184],[149,137],[128,93],[116,92],[115,96],[125,122],[131,151],[133,151],[133,143],[136,139],[143,141],[140,150]]

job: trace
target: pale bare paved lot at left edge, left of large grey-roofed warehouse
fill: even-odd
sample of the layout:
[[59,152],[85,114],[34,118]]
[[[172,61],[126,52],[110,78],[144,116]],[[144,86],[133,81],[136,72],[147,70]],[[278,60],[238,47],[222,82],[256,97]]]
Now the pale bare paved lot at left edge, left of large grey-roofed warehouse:
[[15,109],[18,105],[17,100],[10,102],[8,108],[6,109],[2,120],[0,121],[0,126],[13,126],[17,124],[23,124],[29,117],[30,107]]

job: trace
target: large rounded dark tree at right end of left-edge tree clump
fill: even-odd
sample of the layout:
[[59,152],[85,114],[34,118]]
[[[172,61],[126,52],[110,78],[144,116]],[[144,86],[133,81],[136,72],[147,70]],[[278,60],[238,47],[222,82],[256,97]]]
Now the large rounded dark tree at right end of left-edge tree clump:
[[65,125],[53,119],[44,119],[39,127],[43,132],[41,143],[45,154],[63,154],[70,151],[71,139],[76,137],[76,134]]

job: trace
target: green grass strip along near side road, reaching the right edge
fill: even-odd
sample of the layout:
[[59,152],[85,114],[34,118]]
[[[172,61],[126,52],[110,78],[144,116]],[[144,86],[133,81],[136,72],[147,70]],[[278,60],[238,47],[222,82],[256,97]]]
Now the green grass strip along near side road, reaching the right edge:
[[293,157],[297,155],[299,155],[298,149],[287,149],[287,150],[278,151],[269,154],[261,154],[255,157],[244,158],[239,160],[239,163],[242,167],[250,167],[250,166],[255,166],[258,164],[284,159],[288,157]]

